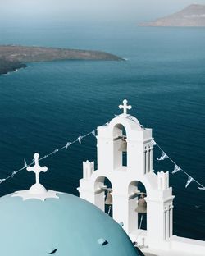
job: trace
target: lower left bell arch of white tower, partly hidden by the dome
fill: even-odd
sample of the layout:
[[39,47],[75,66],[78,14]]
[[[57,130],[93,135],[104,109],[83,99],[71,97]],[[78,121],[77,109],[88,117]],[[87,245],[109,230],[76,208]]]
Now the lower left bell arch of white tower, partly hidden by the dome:
[[105,177],[100,176],[94,184],[94,201],[98,208],[112,217],[112,183]]

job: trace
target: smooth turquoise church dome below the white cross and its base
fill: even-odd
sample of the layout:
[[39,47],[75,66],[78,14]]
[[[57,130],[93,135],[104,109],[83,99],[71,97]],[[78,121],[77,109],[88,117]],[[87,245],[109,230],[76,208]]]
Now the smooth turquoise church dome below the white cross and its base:
[[122,227],[92,203],[71,194],[59,199],[0,198],[1,255],[141,255]]

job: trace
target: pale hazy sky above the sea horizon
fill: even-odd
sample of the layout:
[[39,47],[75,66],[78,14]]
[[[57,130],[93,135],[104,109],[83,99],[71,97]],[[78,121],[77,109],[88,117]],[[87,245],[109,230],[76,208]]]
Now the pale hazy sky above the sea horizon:
[[0,21],[149,21],[205,0],[0,0]]

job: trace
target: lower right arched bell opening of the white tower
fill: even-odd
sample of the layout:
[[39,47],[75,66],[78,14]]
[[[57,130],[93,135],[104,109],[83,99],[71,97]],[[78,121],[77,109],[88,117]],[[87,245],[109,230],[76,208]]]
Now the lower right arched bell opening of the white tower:
[[147,192],[140,181],[130,182],[129,188],[129,230],[147,230]]

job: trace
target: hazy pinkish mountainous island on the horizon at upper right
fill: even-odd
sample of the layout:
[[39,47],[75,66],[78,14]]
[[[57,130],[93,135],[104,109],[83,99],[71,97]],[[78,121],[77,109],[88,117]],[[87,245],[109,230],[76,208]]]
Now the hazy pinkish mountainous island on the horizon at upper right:
[[205,5],[191,4],[182,11],[157,19],[156,21],[139,24],[141,26],[205,26]]

